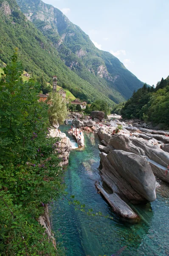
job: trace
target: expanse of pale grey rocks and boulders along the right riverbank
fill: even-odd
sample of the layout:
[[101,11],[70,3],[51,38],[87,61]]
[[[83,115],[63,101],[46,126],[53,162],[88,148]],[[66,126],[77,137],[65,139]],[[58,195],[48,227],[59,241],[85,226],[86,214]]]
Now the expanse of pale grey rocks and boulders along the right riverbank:
[[103,184],[96,183],[96,187],[121,217],[138,218],[129,204],[156,199],[155,177],[169,183],[169,132],[139,124],[136,127],[136,123],[121,122],[117,116],[104,119],[101,111],[93,111],[91,117],[78,114],[73,124],[101,139],[99,169]]

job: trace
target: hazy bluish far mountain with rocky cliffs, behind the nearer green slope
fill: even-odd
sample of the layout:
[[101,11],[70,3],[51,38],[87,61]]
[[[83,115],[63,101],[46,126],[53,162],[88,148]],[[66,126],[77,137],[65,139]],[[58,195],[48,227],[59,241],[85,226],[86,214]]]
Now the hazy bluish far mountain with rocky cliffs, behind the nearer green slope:
[[17,3],[27,19],[52,41],[62,61],[82,79],[103,88],[110,99],[120,102],[142,87],[142,82],[118,58],[97,49],[89,36],[59,9],[41,0]]

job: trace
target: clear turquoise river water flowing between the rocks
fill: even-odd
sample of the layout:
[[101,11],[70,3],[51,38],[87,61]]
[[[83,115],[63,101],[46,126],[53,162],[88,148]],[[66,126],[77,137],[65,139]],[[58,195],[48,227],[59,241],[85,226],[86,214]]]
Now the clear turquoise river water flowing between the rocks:
[[[60,126],[65,133],[69,128]],[[75,195],[87,209],[110,215],[113,220],[87,216],[68,205],[67,200],[55,202],[51,209],[52,227],[62,233],[66,255],[111,256],[127,246],[121,256],[169,256],[169,187],[161,185],[155,202],[135,206],[141,216],[138,224],[121,220],[95,188],[95,181],[100,180],[98,143],[97,136],[85,134],[85,149],[70,152],[65,183],[68,195]]]

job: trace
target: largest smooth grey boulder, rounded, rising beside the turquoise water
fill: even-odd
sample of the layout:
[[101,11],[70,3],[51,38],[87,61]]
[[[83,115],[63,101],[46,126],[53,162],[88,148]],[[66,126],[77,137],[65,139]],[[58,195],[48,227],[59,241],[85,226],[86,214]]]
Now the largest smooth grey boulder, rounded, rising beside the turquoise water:
[[112,189],[115,186],[117,193],[137,203],[156,199],[155,175],[146,159],[122,150],[101,153],[100,158],[102,176]]

